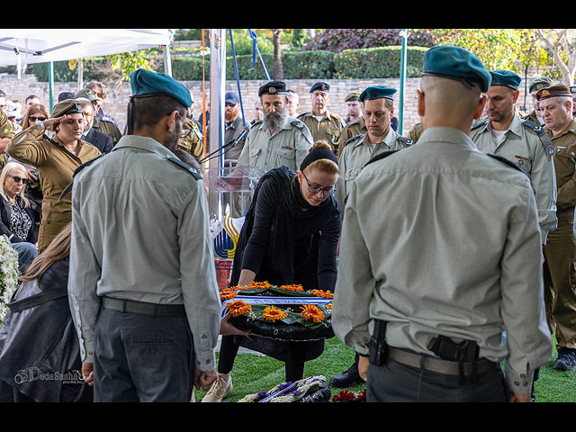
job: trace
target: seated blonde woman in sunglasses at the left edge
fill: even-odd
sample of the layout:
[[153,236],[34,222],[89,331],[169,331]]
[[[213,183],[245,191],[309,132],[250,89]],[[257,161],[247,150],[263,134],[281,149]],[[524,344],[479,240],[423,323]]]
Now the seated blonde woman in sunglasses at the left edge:
[[38,256],[34,245],[38,240],[39,215],[24,195],[28,184],[26,168],[17,162],[8,162],[0,174],[0,184],[0,235],[9,238],[18,252],[18,269],[23,274]]

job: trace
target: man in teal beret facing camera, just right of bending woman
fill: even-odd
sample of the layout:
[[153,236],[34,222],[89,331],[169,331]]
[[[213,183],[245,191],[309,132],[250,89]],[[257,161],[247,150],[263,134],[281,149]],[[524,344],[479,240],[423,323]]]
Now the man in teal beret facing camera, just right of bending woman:
[[374,85],[360,94],[367,132],[348,139],[339,157],[340,175],[335,196],[342,209],[346,205],[350,183],[368,160],[383,151],[407,148],[412,144],[410,139],[401,137],[392,129],[395,93],[395,88]]

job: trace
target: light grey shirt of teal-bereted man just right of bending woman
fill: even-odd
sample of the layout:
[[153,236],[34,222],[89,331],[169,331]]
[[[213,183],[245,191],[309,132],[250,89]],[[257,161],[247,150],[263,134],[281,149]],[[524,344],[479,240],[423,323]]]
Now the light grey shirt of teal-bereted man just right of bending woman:
[[354,141],[348,142],[338,159],[339,175],[334,196],[340,208],[344,210],[350,191],[350,184],[354,182],[356,176],[360,174],[362,168],[372,157],[383,151],[407,148],[410,144],[410,139],[404,139],[396,130],[393,130],[392,127],[383,141],[377,142],[376,144],[370,144],[370,142],[368,142],[367,133]]

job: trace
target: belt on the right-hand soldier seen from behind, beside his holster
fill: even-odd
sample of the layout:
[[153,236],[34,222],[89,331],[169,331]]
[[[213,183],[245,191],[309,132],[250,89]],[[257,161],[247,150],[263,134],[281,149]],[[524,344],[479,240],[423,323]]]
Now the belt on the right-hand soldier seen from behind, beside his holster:
[[[401,365],[407,365],[412,367],[420,368],[423,363],[423,368],[429,372],[436,372],[438,374],[448,374],[448,375],[460,375],[460,363],[453,362],[450,360],[443,360],[437,357],[424,356],[422,360],[422,355],[416,353],[410,353],[400,348],[388,347],[386,358],[388,360],[393,360]],[[473,362],[475,362],[475,373],[482,374],[482,372],[490,371],[494,369],[497,364],[491,362],[486,358],[481,358],[478,360],[473,360],[470,362],[463,362],[464,369],[462,371],[464,376],[470,376],[474,374]]]

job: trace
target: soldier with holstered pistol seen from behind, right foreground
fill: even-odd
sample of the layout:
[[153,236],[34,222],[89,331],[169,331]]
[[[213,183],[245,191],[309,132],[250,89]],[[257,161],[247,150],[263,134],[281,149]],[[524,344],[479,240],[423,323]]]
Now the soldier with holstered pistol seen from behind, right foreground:
[[419,143],[351,185],[332,327],[360,356],[366,401],[529,401],[552,355],[534,192],[468,137],[482,62],[437,46],[422,75]]

